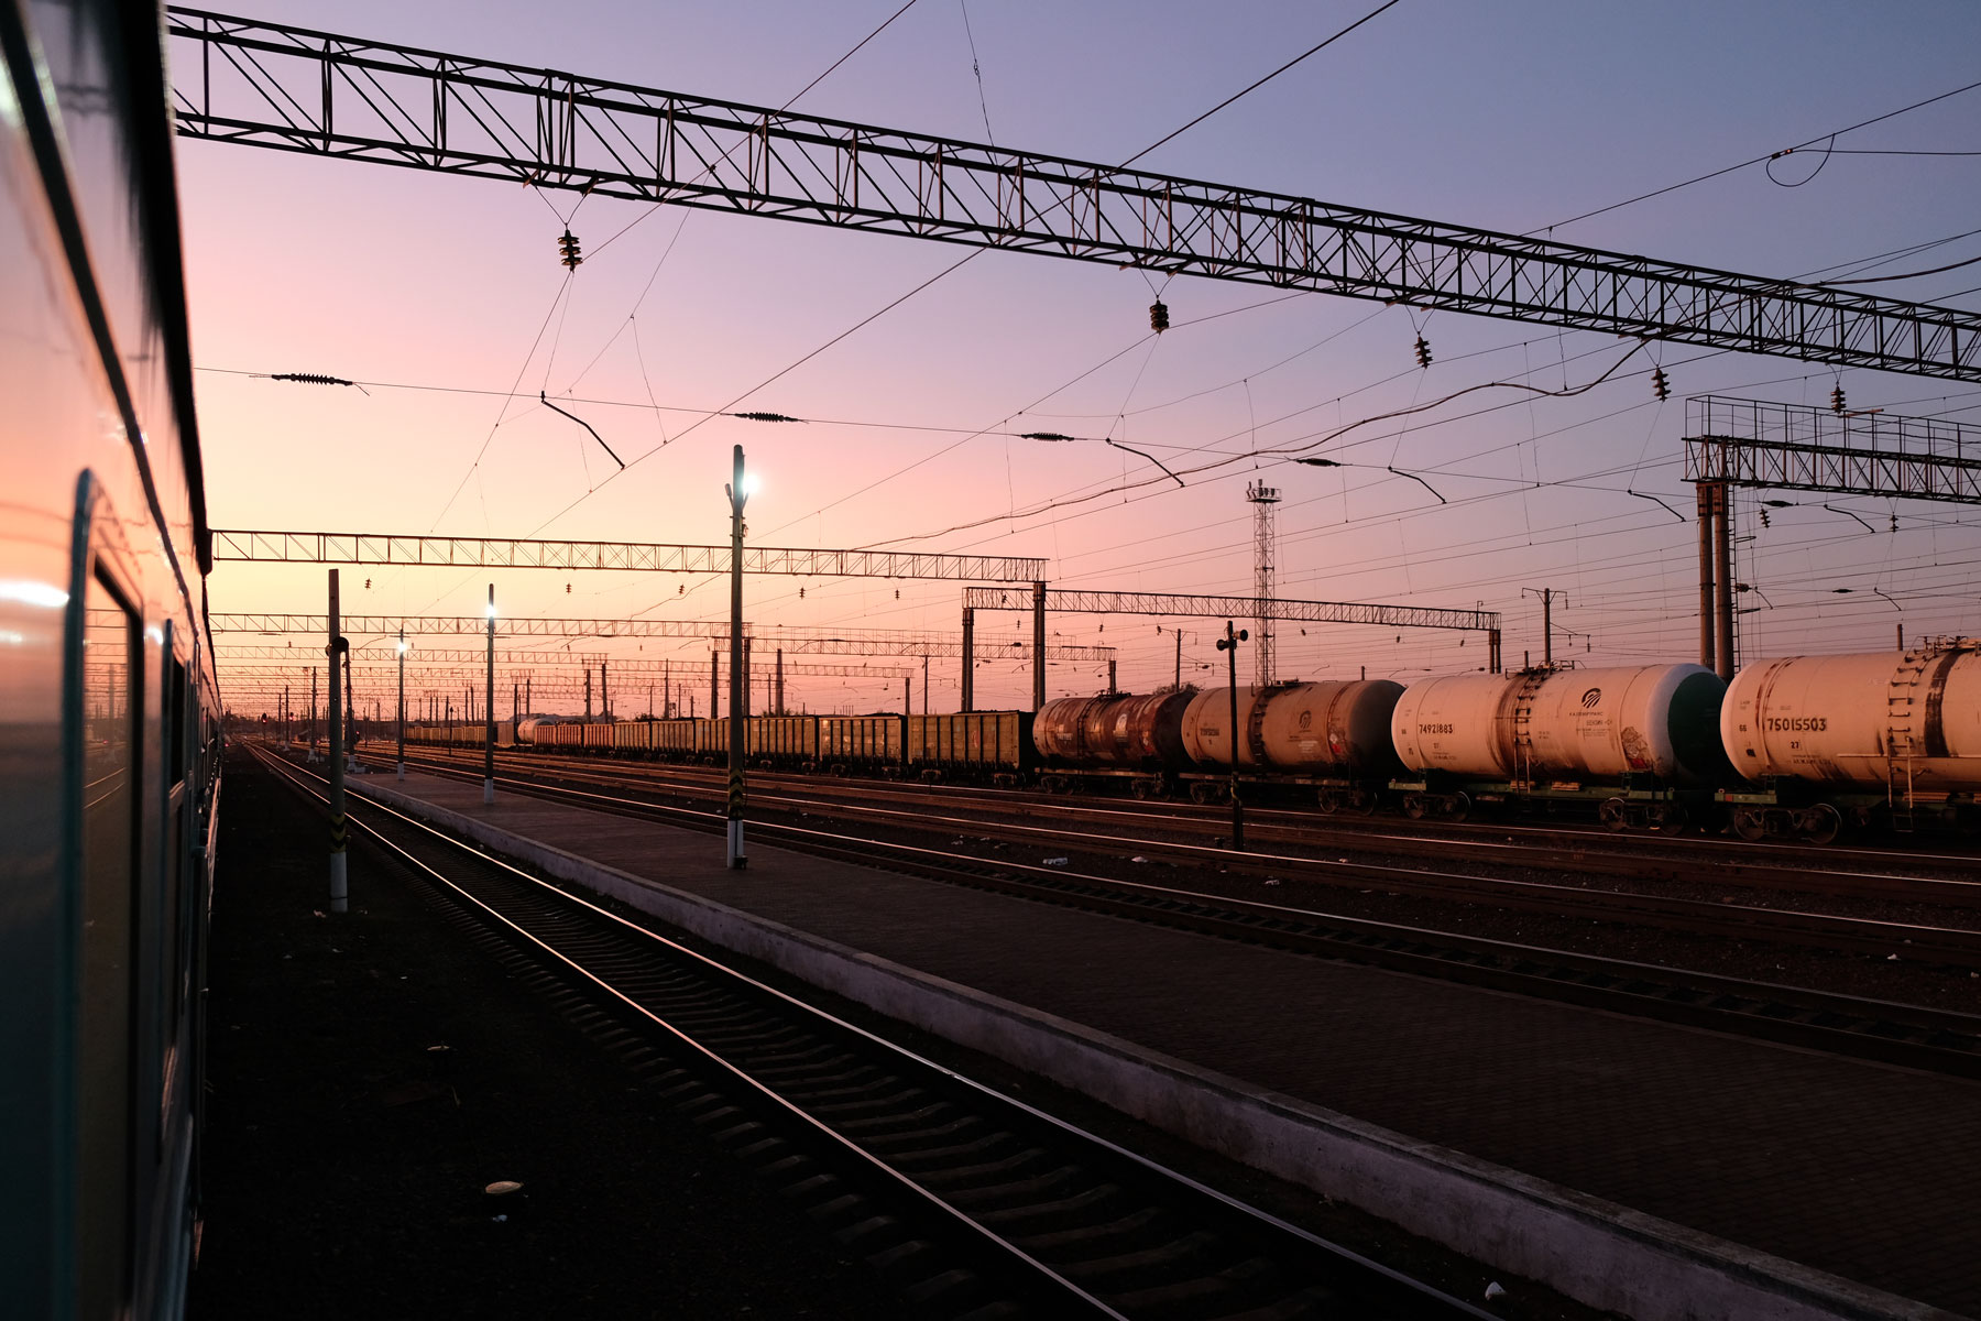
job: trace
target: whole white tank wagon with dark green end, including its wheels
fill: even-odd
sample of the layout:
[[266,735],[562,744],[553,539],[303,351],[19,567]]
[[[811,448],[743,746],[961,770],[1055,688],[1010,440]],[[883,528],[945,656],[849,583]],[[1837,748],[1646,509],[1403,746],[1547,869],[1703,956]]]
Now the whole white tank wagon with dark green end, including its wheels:
[[1723,697],[1725,683],[1704,665],[1424,679],[1397,703],[1397,757],[1416,778],[1395,790],[1407,816],[1597,800],[1613,828],[1682,830],[1727,780]]

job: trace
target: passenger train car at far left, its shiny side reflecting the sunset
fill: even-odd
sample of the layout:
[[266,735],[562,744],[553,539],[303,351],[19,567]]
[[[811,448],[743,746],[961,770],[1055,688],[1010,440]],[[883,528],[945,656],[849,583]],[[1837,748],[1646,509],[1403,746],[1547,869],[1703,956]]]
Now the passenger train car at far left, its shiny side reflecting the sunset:
[[218,802],[156,6],[0,4],[0,1315],[176,1317]]

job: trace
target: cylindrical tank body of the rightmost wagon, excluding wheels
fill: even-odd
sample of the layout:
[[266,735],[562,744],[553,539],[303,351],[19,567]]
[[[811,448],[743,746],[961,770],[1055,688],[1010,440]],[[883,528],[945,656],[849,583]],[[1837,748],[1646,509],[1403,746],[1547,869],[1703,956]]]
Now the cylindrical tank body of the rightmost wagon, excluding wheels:
[[1749,780],[1981,788],[1981,640],[1789,656],[1733,675],[1720,737]]

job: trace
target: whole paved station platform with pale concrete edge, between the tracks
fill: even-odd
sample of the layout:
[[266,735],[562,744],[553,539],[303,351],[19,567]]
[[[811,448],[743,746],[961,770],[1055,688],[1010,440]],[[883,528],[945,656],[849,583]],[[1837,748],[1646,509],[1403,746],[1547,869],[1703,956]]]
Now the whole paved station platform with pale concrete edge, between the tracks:
[[[1139,1119],[1632,1317],[1981,1317],[1981,1085],[355,776]],[[1187,873],[1177,873],[1187,883]]]

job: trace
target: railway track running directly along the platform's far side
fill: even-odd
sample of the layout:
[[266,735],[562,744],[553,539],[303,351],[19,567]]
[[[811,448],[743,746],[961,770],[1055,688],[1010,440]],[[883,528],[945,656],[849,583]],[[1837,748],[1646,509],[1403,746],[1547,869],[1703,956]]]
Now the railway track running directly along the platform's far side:
[[[479,770],[442,768],[479,780]],[[539,780],[497,776],[523,792],[590,810],[719,832],[723,816]],[[363,786],[357,786],[363,792]],[[1086,875],[1068,867],[957,856],[891,840],[753,822],[753,838],[858,865],[1080,907],[1199,935],[1272,945],[1472,986],[1601,1008],[1658,1022],[1771,1040],[1928,1071],[1981,1077],[1981,1018],[1688,968],[1365,921],[1169,885]],[[1143,846],[1147,848],[1147,846]],[[1216,854],[1220,864],[1228,858]]]

